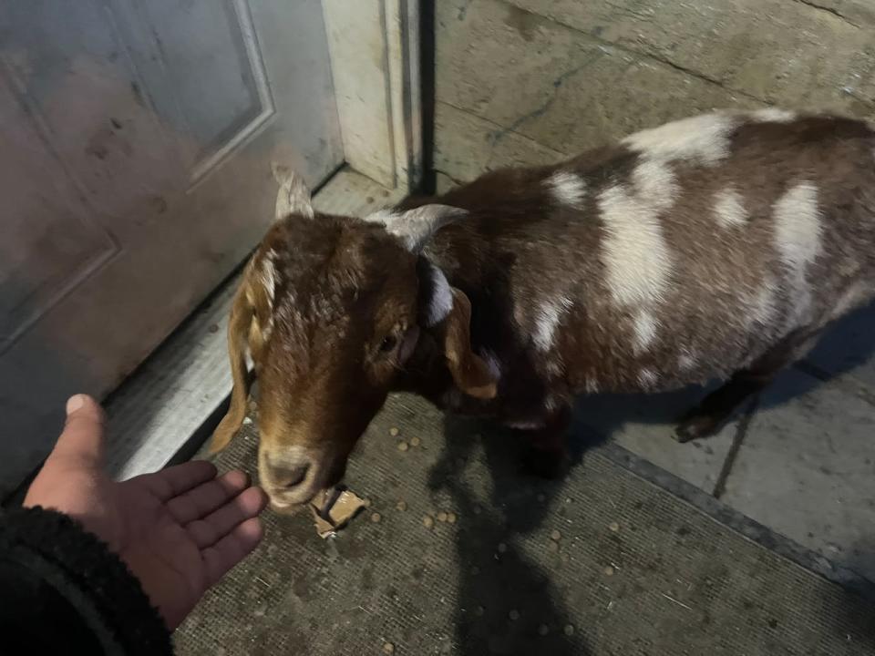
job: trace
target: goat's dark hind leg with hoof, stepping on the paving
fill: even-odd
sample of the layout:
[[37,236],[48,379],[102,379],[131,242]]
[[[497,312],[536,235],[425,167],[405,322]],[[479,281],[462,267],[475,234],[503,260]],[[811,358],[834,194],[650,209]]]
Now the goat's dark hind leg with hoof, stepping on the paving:
[[819,331],[798,331],[787,335],[750,367],[736,372],[726,384],[705,396],[681,420],[674,438],[683,443],[713,436],[747,398],[761,392],[778,372],[807,354],[818,334]]

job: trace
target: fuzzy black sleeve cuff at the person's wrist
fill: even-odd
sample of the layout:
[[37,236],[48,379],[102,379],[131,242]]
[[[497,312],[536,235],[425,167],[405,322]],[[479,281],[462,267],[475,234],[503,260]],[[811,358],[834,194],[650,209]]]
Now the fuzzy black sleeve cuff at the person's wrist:
[[0,553],[66,598],[108,653],[172,653],[170,632],[139,579],[76,520],[16,508],[0,518]]

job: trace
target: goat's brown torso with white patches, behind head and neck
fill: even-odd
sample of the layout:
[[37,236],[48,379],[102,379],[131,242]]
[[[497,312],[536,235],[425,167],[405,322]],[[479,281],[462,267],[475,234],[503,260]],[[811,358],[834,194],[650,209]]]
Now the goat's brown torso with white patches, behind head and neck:
[[847,118],[689,118],[440,202],[471,212],[428,254],[474,339],[578,391],[726,376],[875,291],[875,135]]

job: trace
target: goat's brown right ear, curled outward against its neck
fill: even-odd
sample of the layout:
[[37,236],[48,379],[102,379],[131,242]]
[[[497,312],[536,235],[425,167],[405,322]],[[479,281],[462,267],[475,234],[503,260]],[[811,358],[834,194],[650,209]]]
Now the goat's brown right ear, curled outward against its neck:
[[489,365],[471,350],[471,302],[452,288],[452,308],[440,323],[444,356],[453,382],[463,394],[488,400],[498,393],[498,381]]

